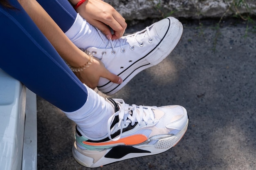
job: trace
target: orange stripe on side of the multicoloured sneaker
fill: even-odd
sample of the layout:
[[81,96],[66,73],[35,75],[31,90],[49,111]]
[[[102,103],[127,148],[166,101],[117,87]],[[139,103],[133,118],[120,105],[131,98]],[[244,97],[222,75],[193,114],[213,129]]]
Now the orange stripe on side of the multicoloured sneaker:
[[101,142],[101,143],[83,141],[83,144],[91,145],[91,146],[103,146],[103,145],[111,145],[111,144],[118,144],[118,143],[123,143],[125,145],[137,145],[137,144],[141,144],[147,139],[148,138],[145,135],[132,135],[132,136],[121,138],[118,141],[109,141],[109,142]]

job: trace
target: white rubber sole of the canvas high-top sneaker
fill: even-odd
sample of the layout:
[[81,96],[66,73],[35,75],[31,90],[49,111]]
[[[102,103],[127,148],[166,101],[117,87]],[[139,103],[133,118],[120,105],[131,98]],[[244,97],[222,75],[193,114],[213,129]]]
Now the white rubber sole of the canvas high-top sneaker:
[[123,79],[123,82],[121,84],[115,84],[112,82],[108,82],[107,84],[105,84],[103,86],[98,86],[97,88],[99,89],[99,91],[101,91],[102,93],[104,93],[106,95],[113,95],[113,94],[117,93],[119,90],[121,90],[121,88],[123,88],[139,72],[143,71],[146,68],[155,66],[155,65],[159,64],[160,62],[162,62],[177,46],[177,44],[180,41],[180,38],[182,37],[183,26],[182,26],[181,22],[179,22],[179,24],[180,24],[180,30],[178,31],[177,37],[173,41],[173,44],[169,47],[168,51],[166,51],[164,54],[162,54],[162,56],[156,62],[154,62],[153,64],[148,64],[147,59],[154,58],[155,56],[156,57],[159,56],[159,53],[157,53],[157,51],[158,51],[157,47],[162,46],[162,44],[164,44],[163,41],[161,41],[155,47],[155,49],[153,51],[151,51],[147,56],[142,57],[135,64],[130,66],[126,71],[123,71],[121,74],[118,75],[119,77],[122,77],[122,79]]

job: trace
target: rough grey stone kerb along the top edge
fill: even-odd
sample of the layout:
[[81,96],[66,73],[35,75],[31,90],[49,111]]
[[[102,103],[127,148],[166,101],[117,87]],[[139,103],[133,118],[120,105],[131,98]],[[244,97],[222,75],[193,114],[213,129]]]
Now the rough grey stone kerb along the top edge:
[[[237,13],[256,14],[255,0],[105,0],[126,20],[163,18],[209,18],[232,16]],[[235,8],[237,7],[237,8]]]

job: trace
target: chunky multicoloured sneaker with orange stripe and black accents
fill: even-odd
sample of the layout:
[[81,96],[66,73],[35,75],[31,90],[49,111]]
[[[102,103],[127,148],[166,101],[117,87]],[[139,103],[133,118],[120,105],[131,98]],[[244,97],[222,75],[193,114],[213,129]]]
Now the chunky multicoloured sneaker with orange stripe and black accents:
[[82,166],[96,168],[165,152],[187,130],[189,119],[182,106],[136,106],[122,99],[106,100],[115,108],[115,114],[108,120],[105,137],[92,139],[76,127],[72,154]]

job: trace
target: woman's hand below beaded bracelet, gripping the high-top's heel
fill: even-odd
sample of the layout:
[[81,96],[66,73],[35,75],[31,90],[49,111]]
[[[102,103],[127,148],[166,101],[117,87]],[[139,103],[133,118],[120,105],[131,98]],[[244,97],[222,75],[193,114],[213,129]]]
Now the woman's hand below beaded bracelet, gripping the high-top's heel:
[[74,73],[82,83],[92,89],[97,87],[100,77],[109,79],[111,82],[117,84],[121,84],[123,82],[121,77],[110,73],[110,71],[105,68],[104,64],[97,58],[94,58],[94,62],[92,62],[92,64],[85,70]]

